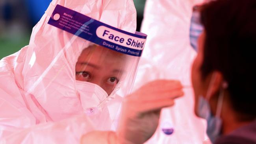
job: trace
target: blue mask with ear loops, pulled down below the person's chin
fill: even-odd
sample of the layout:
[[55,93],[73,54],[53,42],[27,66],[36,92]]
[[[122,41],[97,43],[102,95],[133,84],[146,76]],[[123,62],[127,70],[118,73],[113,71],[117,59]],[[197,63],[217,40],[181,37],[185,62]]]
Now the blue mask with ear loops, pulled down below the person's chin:
[[[212,85],[212,82],[213,82],[213,77],[211,78],[210,86]],[[217,103],[217,111],[215,116],[211,113],[211,108],[209,103],[210,93],[211,91],[208,89],[206,98],[204,98],[204,96],[202,95],[199,96],[197,113],[200,118],[206,119],[207,121],[206,133],[210,138],[211,142],[215,142],[215,140],[221,135],[222,120],[220,118],[220,114],[221,114],[221,107],[223,103],[223,90],[219,95],[219,99]]]

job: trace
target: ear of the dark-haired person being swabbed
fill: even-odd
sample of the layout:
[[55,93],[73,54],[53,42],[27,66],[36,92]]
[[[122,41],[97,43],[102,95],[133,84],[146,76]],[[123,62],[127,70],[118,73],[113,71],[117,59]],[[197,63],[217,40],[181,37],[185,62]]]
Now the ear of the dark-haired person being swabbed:
[[209,76],[211,77],[208,84],[209,98],[212,98],[222,89],[224,79],[219,71],[213,71]]

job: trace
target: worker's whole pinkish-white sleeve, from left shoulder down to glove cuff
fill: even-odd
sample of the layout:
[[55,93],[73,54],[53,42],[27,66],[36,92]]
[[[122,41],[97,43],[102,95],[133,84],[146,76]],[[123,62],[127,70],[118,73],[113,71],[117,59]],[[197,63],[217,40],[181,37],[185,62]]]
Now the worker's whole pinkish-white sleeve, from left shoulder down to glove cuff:
[[0,144],[78,143],[82,134],[95,128],[91,120],[78,115],[50,122],[33,98],[28,98],[31,95],[21,89],[26,49],[0,61]]

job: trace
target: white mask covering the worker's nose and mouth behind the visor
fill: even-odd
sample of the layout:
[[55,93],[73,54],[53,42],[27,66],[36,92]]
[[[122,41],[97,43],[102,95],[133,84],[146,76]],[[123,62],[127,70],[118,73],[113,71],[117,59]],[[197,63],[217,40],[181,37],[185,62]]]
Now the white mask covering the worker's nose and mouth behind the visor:
[[76,89],[80,96],[80,102],[86,114],[96,114],[102,111],[102,105],[108,98],[108,94],[100,86],[87,81],[76,81]]

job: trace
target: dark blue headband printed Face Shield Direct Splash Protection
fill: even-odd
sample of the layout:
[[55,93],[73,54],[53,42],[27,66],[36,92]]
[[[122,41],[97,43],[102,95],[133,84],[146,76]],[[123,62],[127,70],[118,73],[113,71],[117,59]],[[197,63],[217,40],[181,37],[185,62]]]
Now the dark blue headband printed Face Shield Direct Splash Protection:
[[[54,6],[50,5],[46,13],[53,9]],[[144,33],[129,33],[60,5],[53,10],[48,24],[105,48],[136,57],[141,56],[147,39]]]

